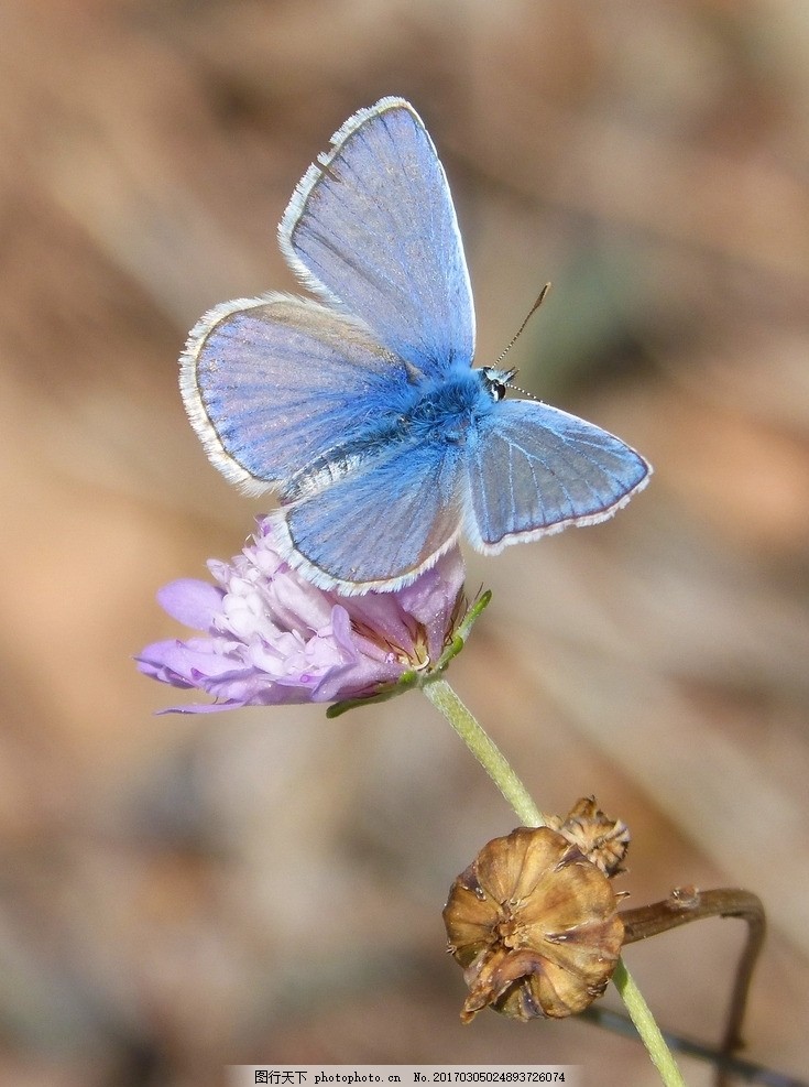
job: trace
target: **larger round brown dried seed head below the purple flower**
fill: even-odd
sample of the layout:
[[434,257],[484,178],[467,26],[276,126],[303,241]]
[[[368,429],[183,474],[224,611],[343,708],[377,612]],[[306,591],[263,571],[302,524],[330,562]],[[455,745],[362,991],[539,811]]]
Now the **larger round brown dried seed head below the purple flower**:
[[582,1011],[623,941],[609,879],[548,827],[485,845],[452,884],[444,923],[469,987],[464,1023],[488,1004],[523,1021]]

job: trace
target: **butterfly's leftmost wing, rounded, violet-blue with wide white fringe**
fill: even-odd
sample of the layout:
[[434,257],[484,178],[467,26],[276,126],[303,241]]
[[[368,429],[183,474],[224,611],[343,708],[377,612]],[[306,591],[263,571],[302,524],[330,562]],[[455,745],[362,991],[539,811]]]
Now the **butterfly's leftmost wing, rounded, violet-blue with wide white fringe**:
[[283,294],[217,306],[181,358],[183,400],[208,456],[255,493],[339,460],[341,444],[411,381],[359,322]]

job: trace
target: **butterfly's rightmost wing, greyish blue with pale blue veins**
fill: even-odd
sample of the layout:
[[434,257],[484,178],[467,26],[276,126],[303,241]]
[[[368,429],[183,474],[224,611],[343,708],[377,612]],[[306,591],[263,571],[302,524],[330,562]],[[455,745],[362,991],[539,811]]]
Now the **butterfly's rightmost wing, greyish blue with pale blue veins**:
[[484,554],[594,524],[648,482],[652,467],[628,445],[547,404],[503,401],[470,442],[464,528]]

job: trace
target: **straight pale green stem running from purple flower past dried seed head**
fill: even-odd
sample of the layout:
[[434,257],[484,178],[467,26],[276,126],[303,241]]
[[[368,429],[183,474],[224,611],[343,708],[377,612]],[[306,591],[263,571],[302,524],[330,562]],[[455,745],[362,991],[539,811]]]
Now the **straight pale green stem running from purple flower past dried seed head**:
[[[528,791],[512,770],[505,757],[470,714],[446,680],[429,680],[422,686],[436,709],[440,710],[463,740],[478,762],[527,827],[547,825],[546,816],[531,798]],[[646,1046],[665,1087],[685,1087],[685,1080],[674,1062],[660,1030],[652,1017],[639,989],[630,977],[623,959],[619,959],[612,976],[632,1022]]]

